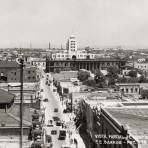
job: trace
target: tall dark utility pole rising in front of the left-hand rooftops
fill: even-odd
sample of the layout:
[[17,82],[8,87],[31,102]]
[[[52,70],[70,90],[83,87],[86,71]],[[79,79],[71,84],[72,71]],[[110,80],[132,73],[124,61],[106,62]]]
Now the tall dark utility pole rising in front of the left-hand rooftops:
[[20,148],[23,148],[23,65],[24,60],[20,59]]

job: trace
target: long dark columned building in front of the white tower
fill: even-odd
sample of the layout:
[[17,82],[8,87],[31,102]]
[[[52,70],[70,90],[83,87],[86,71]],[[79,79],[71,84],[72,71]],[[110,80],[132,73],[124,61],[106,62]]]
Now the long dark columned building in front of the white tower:
[[60,72],[63,70],[79,70],[87,69],[94,71],[96,69],[107,69],[110,66],[117,66],[123,69],[125,66],[125,60],[117,59],[47,59],[46,60],[46,72]]

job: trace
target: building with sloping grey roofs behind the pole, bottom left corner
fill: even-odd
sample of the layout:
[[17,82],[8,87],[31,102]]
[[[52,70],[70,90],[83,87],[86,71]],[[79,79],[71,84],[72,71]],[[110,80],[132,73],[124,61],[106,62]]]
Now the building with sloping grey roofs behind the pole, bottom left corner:
[[[19,148],[20,145],[20,105],[14,104],[15,96],[0,90],[0,146]],[[31,111],[23,107],[23,147],[29,147],[28,135],[32,125]]]

